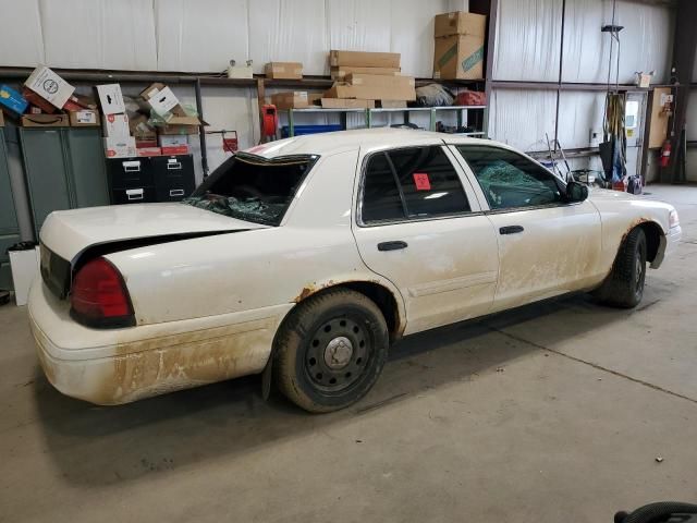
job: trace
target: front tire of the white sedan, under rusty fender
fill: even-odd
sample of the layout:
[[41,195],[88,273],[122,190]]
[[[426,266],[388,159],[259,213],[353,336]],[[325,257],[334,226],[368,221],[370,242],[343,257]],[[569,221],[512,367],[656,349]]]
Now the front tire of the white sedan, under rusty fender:
[[621,308],[638,305],[644,296],[646,280],[646,234],[633,229],[620,247],[612,272],[594,292],[601,302]]

